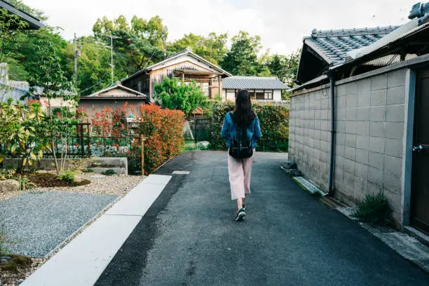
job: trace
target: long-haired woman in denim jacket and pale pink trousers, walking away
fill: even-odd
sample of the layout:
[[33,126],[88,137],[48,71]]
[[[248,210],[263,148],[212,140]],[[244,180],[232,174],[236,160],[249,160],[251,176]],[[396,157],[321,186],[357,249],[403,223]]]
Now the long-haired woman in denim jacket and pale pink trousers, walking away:
[[256,141],[261,137],[257,115],[247,90],[239,90],[236,108],[225,116],[221,136],[229,148],[228,172],[231,199],[237,201],[236,221],[245,217],[245,196],[250,193],[250,174]]

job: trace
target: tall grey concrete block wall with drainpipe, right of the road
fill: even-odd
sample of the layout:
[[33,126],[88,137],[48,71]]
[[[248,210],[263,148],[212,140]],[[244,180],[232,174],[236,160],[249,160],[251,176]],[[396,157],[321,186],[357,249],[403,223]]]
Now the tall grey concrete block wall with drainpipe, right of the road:
[[[402,158],[406,69],[336,86],[335,195],[346,203],[383,191],[402,225]],[[327,189],[329,88],[292,97],[290,158]]]

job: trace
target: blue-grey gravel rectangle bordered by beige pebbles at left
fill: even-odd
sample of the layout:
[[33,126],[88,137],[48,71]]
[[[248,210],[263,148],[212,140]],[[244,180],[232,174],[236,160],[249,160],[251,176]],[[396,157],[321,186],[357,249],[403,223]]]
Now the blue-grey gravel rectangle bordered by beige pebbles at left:
[[[106,187],[104,191],[111,189]],[[85,190],[81,190],[82,193],[63,191],[29,191],[0,200],[0,225],[4,225],[6,231],[8,252],[43,257],[118,198],[117,195],[84,193]]]

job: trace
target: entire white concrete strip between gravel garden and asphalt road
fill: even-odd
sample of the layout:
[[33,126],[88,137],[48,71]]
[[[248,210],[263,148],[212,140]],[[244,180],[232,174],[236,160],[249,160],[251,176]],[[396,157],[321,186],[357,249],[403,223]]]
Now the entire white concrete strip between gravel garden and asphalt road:
[[92,286],[171,176],[149,175],[21,286]]

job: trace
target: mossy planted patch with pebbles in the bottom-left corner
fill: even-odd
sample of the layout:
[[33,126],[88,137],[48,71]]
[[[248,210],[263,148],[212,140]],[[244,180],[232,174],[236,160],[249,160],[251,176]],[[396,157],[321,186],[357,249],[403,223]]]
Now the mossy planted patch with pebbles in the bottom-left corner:
[[46,259],[30,258],[15,254],[1,254],[11,257],[11,261],[0,262],[0,283],[2,286],[15,286],[36,271]]

